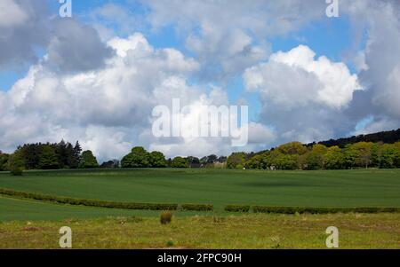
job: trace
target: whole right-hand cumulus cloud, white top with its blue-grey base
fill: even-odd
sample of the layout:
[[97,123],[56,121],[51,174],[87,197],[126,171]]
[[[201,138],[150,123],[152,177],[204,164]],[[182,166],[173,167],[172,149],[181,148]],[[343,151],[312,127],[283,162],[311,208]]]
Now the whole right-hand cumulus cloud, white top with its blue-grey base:
[[244,73],[246,89],[260,92],[263,122],[276,126],[283,140],[310,142],[348,127],[340,112],[361,89],[357,77],[343,63],[315,56],[300,45]]

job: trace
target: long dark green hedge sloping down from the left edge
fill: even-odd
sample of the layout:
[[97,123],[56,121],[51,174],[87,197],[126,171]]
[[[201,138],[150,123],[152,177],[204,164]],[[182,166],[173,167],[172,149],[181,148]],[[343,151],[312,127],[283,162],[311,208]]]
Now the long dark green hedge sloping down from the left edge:
[[176,210],[178,208],[178,204],[132,203],[132,202],[117,202],[117,201],[107,201],[107,200],[82,200],[82,199],[73,199],[68,197],[44,195],[35,192],[20,192],[3,188],[0,188],[0,194],[26,198],[26,199],[33,199],[33,200],[52,201],[61,204],[84,205],[84,206],[101,207],[101,208],[149,209],[149,210]]

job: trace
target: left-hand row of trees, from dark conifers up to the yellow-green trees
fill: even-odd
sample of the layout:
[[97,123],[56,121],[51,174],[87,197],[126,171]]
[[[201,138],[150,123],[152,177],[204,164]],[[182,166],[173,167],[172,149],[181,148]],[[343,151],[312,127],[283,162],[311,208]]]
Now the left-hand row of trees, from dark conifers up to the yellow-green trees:
[[61,141],[58,144],[26,144],[10,154],[0,152],[0,171],[12,169],[94,169],[94,168],[213,168],[225,166],[227,157],[217,155],[166,159],[164,153],[149,153],[141,146],[132,148],[120,161],[105,161],[100,166],[92,151],[82,152],[81,145]]

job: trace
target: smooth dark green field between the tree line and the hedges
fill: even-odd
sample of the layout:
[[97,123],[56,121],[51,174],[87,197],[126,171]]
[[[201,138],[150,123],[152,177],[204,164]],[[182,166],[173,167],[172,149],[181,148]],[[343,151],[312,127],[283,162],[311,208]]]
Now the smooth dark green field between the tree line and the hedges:
[[[0,173],[0,187],[78,199],[302,207],[398,207],[400,169],[119,169]],[[0,211],[1,212],[1,211]]]

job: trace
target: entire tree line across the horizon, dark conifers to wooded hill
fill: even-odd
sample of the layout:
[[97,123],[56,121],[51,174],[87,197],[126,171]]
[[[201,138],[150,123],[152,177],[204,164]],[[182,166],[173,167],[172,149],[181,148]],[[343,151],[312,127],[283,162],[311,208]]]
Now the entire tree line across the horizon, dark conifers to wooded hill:
[[[394,138],[392,134],[396,132],[390,131],[383,136]],[[376,136],[382,134],[372,137]],[[231,153],[228,157],[211,154],[202,158],[178,156],[173,159],[166,159],[164,153],[148,152],[141,146],[135,146],[121,161],[105,161],[101,165],[92,151],[82,152],[78,141],[72,145],[61,140],[54,144],[22,145],[12,154],[0,151],[0,171],[94,168],[390,169],[400,168],[399,139],[392,144],[361,141],[342,147],[324,145],[329,141],[307,145],[291,142],[259,153]]]

